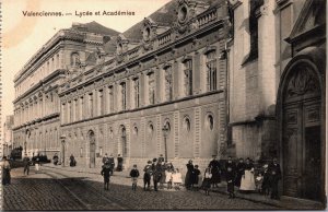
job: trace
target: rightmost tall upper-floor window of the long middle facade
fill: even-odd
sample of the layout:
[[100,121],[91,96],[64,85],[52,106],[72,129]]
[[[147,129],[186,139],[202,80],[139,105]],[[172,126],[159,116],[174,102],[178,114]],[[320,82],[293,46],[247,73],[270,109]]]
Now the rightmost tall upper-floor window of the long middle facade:
[[216,90],[216,59],[215,50],[207,54],[207,87],[208,91]]

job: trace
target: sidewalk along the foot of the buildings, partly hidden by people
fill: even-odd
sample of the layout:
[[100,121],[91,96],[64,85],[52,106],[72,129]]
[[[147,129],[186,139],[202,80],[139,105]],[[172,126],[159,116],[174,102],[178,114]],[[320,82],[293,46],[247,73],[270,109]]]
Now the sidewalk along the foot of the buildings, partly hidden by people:
[[[101,168],[87,168],[87,167],[70,167],[70,166],[55,166],[54,164],[44,164],[43,166],[49,167],[49,168],[56,168],[56,169],[62,169],[66,172],[72,172],[72,173],[87,173],[87,174],[101,174]],[[129,178],[129,173],[127,170],[122,172],[114,172],[114,177],[120,177],[120,178]],[[212,192],[219,192],[222,195],[226,195],[226,182],[222,181],[219,186],[219,188],[212,189]],[[237,191],[237,188],[235,189],[235,195],[237,199],[244,199],[256,203],[265,203],[272,207],[278,207],[285,210],[323,210],[325,209],[324,204],[321,202],[311,201],[311,200],[304,200],[304,199],[297,199],[297,198],[291,198],[282,196],[280,200],[272,200],[270,197],[266,197],[259,193],[241,193]]]

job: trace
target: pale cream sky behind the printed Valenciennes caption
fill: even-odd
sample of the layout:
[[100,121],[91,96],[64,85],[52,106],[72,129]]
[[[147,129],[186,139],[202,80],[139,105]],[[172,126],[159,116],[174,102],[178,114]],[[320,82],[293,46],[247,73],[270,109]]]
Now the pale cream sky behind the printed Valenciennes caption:
[[[125,32],[155,12],[169,0],[0,0],[1,2],[1,126],[5,116],[13,114],[13,79],[31,57],[60,28],[73,22],[97,23]],[[130,11],[134,15],[95,15],[101,11]],[[24,16],[25,11],[71,13],[63,16]],[[81,12],[92,15],[75,15]]]

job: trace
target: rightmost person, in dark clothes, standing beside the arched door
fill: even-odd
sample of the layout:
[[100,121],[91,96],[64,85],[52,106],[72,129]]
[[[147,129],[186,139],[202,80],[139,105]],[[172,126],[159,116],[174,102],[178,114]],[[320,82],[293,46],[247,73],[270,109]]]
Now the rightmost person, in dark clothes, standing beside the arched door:
[[[278,164],[278,160],[274,157],[272,163],[270,164],[268,172],[270,174],[270,182],[271,182],[271,199],[279,200],[278,195],[278,182],[281,179],[281,169]],[[317,173],[314,173],[316,175]]]

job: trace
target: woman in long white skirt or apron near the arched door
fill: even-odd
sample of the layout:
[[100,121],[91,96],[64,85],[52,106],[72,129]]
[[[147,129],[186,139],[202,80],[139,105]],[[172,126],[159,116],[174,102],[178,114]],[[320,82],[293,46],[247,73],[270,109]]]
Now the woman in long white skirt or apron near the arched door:
[[254,191],[255,187],[255,178],[254,178],[254,165],[250,160],[247,157],[245,163],[245,172],[242,176],[241,181],[241,191]]

